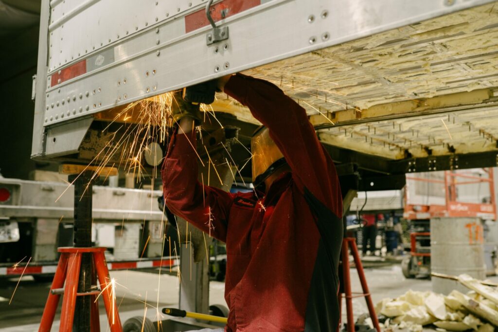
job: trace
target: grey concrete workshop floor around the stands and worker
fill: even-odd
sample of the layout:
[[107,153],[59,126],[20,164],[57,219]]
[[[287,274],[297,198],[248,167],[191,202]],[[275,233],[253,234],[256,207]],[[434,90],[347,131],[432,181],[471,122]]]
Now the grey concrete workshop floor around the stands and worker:
[[[416,291],[431,290],[430,280],[405,279],[399,265],[365,269],[367,281],[374,304],[386,297],[397,297],[409,289]],[[120,302],[122,322],[134,316],[143,317],[144,302],[148,304],[146,316],[151,319],[164,319],[160,314],[162,307],[175,307],[178,303],[178,280],[175,275],[158,275],[157,273],[139,271],[113,271],[111,277],[118,282],[117,299]],[[352,290],[361,291],[358,274],[351,270]],[[498,278],[492,278],[497,280]],[[0,331],[31,332],[38,331],[38,324],[50,287],[49,283],[36,283],[31,277],[24,277],[14,294],[11,304],[8,302],[17,283],[17,279],[0,280]],[[225,304],[224,283],[211,282],[210,304]],[[155,308],[159,307],[159,310]],[[355,316],[367,313],[363,298],[353,299]],[[101,313],[104,313],[101,305]],[[343,310],[343,313],[345,310]],[[59,317],[56,316],[56,320]],[[345,318],[344,318],[345,319]],[[53,331],[58,328],[54,323]],[[101,315],[101,330],[109,331],[104,315]]]

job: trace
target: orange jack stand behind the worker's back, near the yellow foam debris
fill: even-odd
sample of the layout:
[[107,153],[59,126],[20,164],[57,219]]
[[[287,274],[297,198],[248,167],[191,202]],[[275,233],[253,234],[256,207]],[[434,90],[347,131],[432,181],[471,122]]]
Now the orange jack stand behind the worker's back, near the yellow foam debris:
[[[360,278],[360,283],[362,284],[363,293],[352,293],[351,292],[351,276],[349,274],[349,251],[351,248],[351,254],[355,260],[356,270],[358,271],[358,276]],[[378,325],[377,315],[375,314],[375,308],[373,307],[372,298],[370,296],[369,286],[367,285],[367,279],[365,278],[365,272],[363,271],[362,261],[360,260],[360,254],[358,253],[358,247],[356,246],[356,239],[354,237],[345,237],[342,244],[341,251],[342,260],[342,271],[343,271],[343,287],[344,291],[339,293],[339,327],[341,326],[342,318],[342,298],[346,298],[346,312],[348,318],[348,332],[355,331],[355,322],[353,319],[353,298],[354,297],[365,297],[367,302],[367,307],[369,308],[370,318],[372,319],[373,328],[380,332],[380,327]],[[344,295],[343,295],[344,294]],[[355,294],[355,295],[353,295]]]

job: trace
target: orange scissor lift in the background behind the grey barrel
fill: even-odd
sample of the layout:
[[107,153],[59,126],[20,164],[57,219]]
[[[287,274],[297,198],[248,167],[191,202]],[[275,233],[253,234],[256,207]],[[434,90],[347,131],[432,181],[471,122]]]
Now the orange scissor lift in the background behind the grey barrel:
[[404,218],[411,221],[410,255],[402,261],[402,271],[407,278],[428,277],[431,218],[496,220],[493,168],[413,174],[406,180]]

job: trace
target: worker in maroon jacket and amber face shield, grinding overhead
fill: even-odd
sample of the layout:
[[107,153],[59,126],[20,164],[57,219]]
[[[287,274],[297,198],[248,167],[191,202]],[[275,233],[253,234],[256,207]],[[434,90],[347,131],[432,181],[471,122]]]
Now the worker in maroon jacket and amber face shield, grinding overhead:
[[336,331],[342,197],[332,159],[303,108],[275,85],[237,74],[217,87],[264,127],[251,140],[254,192],[198,181],[198,106],[179,100],[162,168],[166,206],[226,242],[226,331]]

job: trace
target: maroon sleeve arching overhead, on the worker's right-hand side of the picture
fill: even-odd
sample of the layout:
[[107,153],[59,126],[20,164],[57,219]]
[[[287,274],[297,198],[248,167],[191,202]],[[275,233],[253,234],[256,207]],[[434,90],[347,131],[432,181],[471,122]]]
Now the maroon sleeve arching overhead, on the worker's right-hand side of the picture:
[[342,196],[334,162],[318,140],[306,111],[274,84],[241,74],[230,78],[225,93],[249,107],[269,128],[298,187],[306,187],[341,218]]

